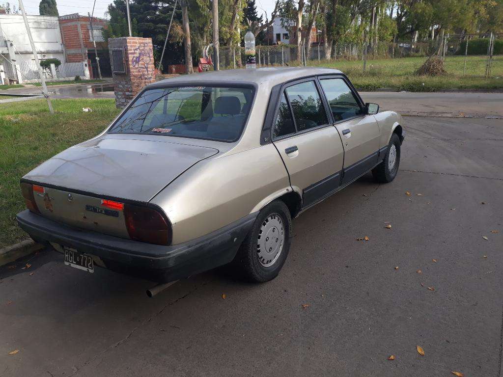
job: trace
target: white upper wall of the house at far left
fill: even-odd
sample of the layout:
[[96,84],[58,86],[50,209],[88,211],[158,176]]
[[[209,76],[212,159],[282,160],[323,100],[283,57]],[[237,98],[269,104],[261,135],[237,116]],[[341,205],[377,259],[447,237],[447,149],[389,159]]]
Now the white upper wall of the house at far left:
[[[32,32],[35,49],[39,54],[38,57],[41,59],[58,58],[63,61],[58,18],[53,16],[28,16],[28,24]],[[11,40],[25,59],[25,54],[28,54],[31,55],[30,60],[32,60],[32,49],[23,17],[21,15],[0,15],[0,26],[2,27],[0,36],[6,40]],[[2,50],[5,50],[5,48],[2,48]],[[16,55],[18,55],[17,51]]]

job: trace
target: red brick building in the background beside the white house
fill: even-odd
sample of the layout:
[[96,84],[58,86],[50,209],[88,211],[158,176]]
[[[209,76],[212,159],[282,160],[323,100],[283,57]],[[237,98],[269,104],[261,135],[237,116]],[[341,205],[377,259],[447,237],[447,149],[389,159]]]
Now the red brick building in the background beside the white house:
[[93,17],[93,30],[88,16],[78,13],[59,16],[59,27],[64,46],[67,62],[90,61],[93,77],[98,77],[96,55],[93,45],[93,37],[96,42],[100,68],[103,76],[111,76],[110,56],[108,44],[105,41],[103,31],[108,27],[108,21]]

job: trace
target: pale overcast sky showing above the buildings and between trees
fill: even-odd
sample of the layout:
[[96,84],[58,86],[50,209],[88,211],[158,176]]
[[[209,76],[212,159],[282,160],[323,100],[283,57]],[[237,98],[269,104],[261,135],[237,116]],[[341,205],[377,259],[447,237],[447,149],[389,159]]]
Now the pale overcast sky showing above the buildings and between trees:
[[[112,3],[113,0],[96,0],[95,16],[104,17],[107,11],[107,6]],[[0,0],[0,4],[7,2],[7,0]],[[271,12],[274,10],[275,0],[256,0],[257,11],[259,14],[264,14],[267,12],[267,16],[271,18]],[[11,4],[17,6],[16,0],[11,0]],[[29,15],[38,15],[38,5],[40,0],[23,0],[26,13]],[[68,15],[71,13],[80,13],[81,15],[87,15],[88,12],[93,11],[93,0],[56,0],[58,5],[59,15]],[[265,17],[264,17],[265,19]]]

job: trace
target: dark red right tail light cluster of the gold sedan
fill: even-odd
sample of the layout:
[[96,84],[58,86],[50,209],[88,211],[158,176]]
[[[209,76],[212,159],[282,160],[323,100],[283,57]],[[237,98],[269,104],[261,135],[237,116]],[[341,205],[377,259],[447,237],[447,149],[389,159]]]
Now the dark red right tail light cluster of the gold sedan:
[[157,245],[171,243],[171,224],[154,208],[125,204],[124,216],[131,239]]

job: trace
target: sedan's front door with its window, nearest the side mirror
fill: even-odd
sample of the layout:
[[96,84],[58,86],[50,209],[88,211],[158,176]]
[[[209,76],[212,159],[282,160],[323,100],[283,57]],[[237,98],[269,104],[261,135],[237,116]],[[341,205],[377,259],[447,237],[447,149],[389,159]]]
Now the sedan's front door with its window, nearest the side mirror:
[[379,125],[343,76],[320,76],[319,82],[344,145],[344,185],[377,164]]

